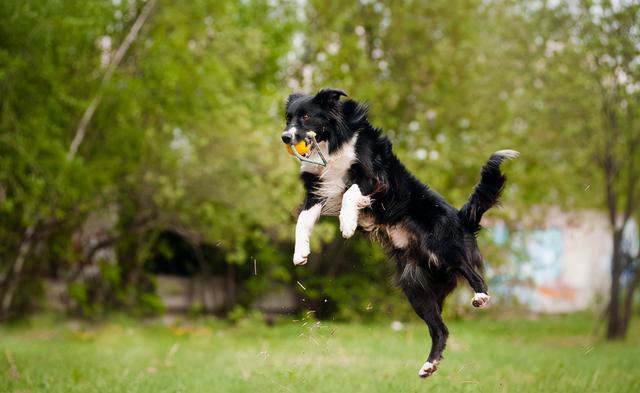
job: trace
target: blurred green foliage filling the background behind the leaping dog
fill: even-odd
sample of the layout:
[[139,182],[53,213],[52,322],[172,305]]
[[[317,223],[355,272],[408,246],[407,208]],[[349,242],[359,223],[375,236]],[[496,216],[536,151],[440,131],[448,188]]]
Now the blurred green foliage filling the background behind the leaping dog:
[[406,312],[379,247],[334,219],[293,268],[302,187],[279,136],[294,91],[370,103],[456,206],[512,148],[490,217],[613,202],[637,218],[638,20],[632,1],[3,1],[0,315],[37,309],[50,279],[74,314],[158,312],[154,273],[176,260],[225,277],[227,312],[297,282],[322,317]]

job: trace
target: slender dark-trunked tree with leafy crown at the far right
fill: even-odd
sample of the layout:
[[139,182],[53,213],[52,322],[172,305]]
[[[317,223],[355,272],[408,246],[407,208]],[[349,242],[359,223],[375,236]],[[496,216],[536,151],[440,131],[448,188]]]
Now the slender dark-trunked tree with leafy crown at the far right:
[[[624,338],[640,281],[637,260],[623,250],[623,232],[630,219],[638,219],[640,204],[640,5],[581,1],[543,6],[529,20],[542,20],[538,26],[544,28],[530,42],[536,53],[532,91],[537,94],[521,100],[522,113],[547,130],[536,136],[546,135],[550,147],[541,152],[561,169],[555,172],[560,176],[549,179],[561,184],[565,203],[607,212],[613,251],[606,335]],[[579,192],[573,177],[584,190],[594,184],[602,193]]]

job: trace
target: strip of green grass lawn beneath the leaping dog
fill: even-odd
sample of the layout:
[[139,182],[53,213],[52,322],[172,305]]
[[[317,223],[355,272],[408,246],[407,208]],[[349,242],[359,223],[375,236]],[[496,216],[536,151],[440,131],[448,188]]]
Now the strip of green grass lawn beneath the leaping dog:
[[586,316],[449,323],[438,372],[417,377],[426,329],[283,321],[0,328],[1,392],[640,392],[627,342]]

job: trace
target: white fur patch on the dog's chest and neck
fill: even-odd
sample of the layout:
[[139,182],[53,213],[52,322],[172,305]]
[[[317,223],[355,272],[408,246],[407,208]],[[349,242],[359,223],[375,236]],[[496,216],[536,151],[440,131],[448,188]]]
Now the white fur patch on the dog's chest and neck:
[[327,158],[327,166],[303,163],[300,170],[318,175],[320,181],[315,189],[315,194],[323,201],[322,214],[337,216],[340,213],[342,195],[346,191],[345,183],[349,168],[356,162],[356,142],[358,134],[337,152],[329,155],[326,142],[320,142],[320,149]]

